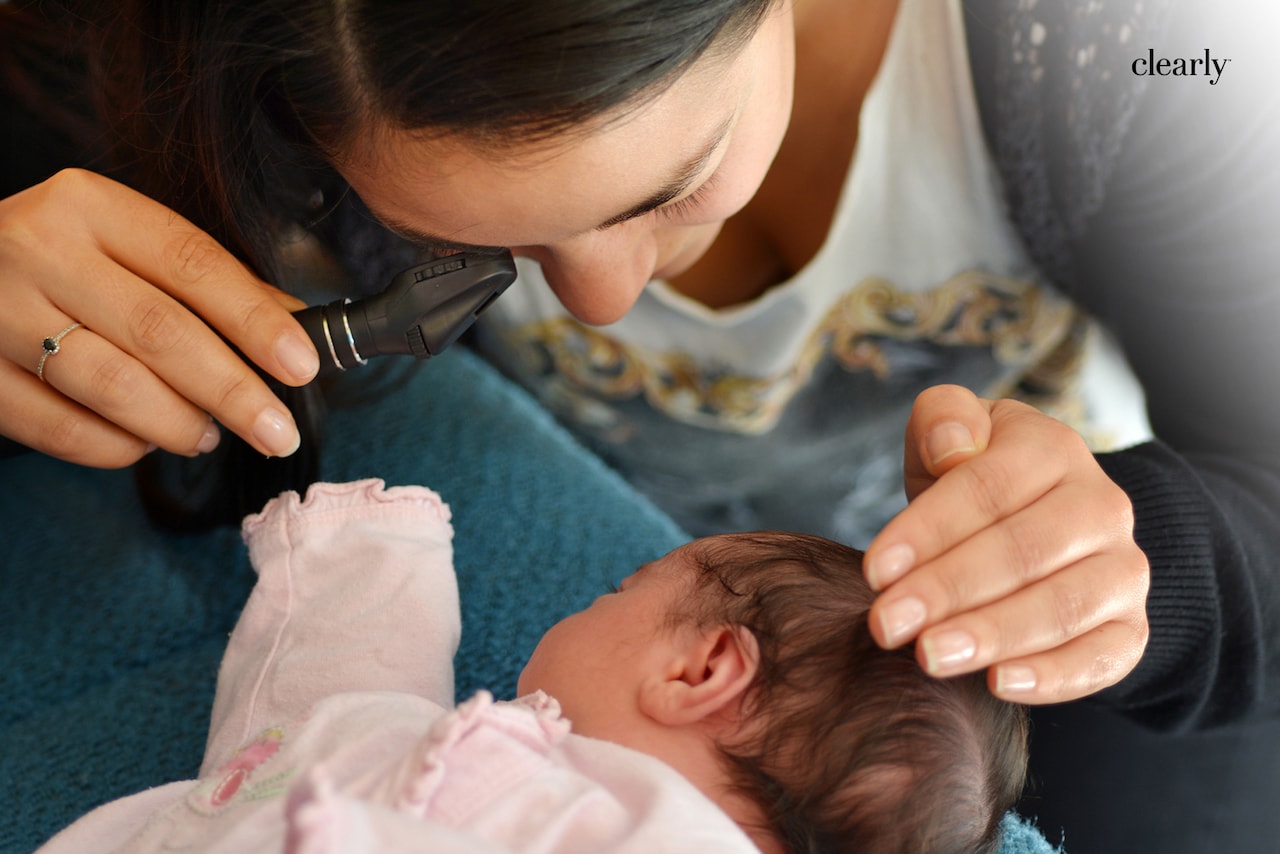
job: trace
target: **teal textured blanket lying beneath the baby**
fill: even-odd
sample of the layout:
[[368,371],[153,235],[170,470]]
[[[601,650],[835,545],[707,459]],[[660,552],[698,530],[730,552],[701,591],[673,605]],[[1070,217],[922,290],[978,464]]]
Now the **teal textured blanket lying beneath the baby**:
[[[335,411],[325,480],[425,484],[453,510],[461,697],[511,697],[543,631],[687,536],[465,351]],[[154,530],[128,471],[0,461],[0,853],[191,778],[253,583],[239,531]],[[1004,854],[1048,854],[1006,819]]]

